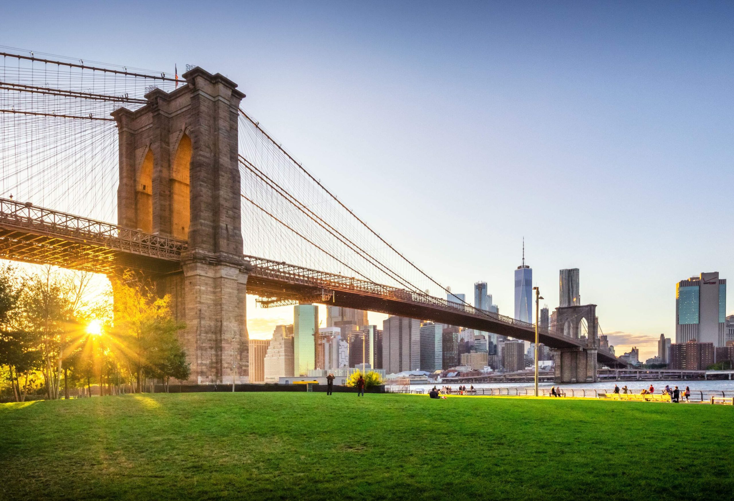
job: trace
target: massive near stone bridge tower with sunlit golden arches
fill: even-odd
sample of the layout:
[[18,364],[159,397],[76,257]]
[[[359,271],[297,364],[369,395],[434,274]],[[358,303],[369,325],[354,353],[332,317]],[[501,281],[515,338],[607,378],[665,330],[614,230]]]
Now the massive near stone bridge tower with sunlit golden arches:
[[189,241],[181,271],[152,277],[191,362],[189,382],[247,382],[247,272],[242,258],[237,120],[244,94],[200,67],[186,85],[118,109],[118,224]]

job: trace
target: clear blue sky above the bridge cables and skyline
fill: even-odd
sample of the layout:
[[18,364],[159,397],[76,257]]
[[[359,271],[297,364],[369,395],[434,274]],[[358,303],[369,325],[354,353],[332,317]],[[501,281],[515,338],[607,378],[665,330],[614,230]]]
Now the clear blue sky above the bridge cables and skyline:
[[734,279],[732,2],[15,2],[0,44],[224,73],[454,291],[511,313],[523,235],[551,308],[581,268],[618,352],[675,337],[677,280]]

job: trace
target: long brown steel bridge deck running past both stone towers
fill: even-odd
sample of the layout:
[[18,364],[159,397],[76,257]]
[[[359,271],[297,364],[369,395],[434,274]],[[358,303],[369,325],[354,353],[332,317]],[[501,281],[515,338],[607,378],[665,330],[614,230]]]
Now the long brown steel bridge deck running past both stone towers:
[[[30,203],[0,198],[0,258],[110,274],[124,268],[170,273],[181,268],[186,241],[95,221]],[[244,256],[247,292],[261,302],[309,301],[446,323],[516,339],[534,341],[534,324],[468,304],[393,288],[368,280],[331,274],[263,257]],[[539,341],[550,348],[586,348],[586,340],[540,329]],[[598,362],[625,362],[599,349]]]

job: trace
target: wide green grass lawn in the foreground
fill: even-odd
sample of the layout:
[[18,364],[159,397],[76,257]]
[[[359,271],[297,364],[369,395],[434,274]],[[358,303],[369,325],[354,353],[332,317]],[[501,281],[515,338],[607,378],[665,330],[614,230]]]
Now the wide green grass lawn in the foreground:
[[730,406],[337,393],[0,404],[0,499],[727,500]]

